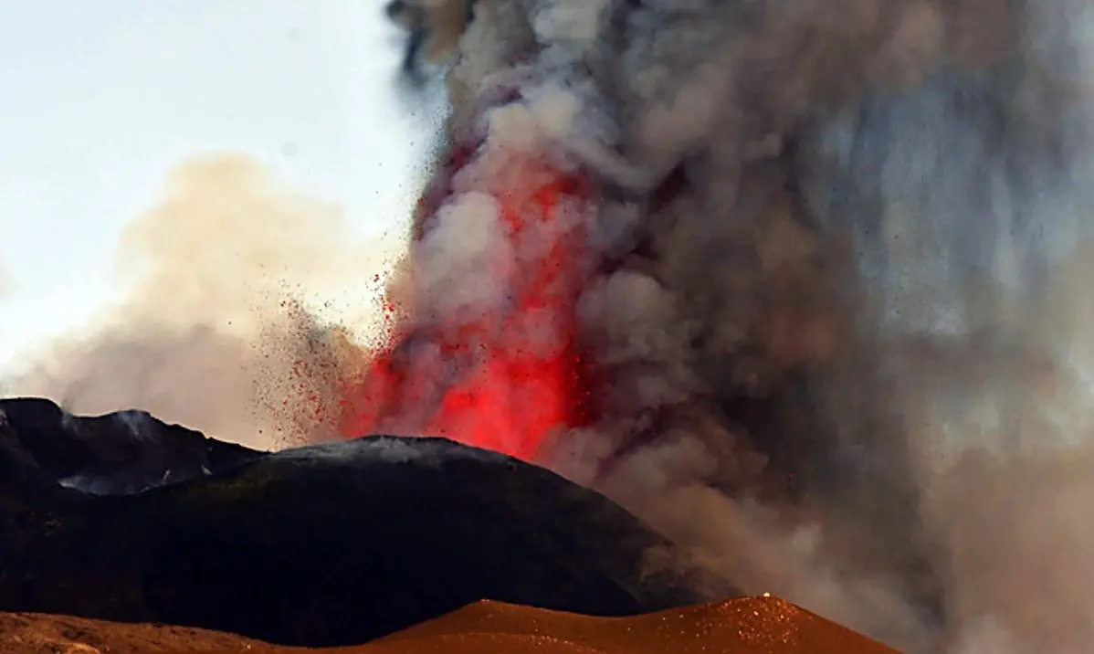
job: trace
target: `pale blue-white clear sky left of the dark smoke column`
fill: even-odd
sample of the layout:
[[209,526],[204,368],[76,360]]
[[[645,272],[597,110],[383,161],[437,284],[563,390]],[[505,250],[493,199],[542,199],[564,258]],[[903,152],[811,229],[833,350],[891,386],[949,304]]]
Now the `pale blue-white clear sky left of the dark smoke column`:
[[123,226],[187,157],[243,152],[406,215],[439,103],[397,91],[383,0],[0,0],[0,372],[119,293]]

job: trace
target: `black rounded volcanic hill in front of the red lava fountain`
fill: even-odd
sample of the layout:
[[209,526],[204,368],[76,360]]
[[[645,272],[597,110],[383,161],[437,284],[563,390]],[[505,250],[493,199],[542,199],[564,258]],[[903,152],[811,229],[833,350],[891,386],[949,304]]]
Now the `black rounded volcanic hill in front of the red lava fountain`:
[[603,497],[440,439],[287,451],[132,495],[7,492],[23,509],[0,610],[338,645],[482,598],[591,615],[699,599],[642,577],[665,544]]

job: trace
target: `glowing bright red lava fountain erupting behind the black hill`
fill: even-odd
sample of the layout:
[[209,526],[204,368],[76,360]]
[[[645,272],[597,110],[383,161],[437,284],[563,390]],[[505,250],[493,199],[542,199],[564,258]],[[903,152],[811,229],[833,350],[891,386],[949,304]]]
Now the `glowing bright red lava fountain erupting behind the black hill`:
[[[457,153],[450,170],[466,157],[466,152]],[[526,162],[520,170],[529,173],[522,179],[535,182],[494,195],[513,249],[522,236],[531,236],[538,240],[538,254],[524,255],[517,265],[498,271],[511,297],[508,311],[469,324],[393,335],[391,346],[344,402],[344,434],[370,434],[397,424],[419,435],[446,436],[533,460],[556,430],[591,419],[590,374],[574,315],[585,281],[585,243],[581,221],[572,213],[573,203],[587,202],[590,189],[580,177],[558,174],[539,162]],[[447,180],[444,184],[432,205],[451,197]],[[563,200],[569,211],[562,210]],[[426,210],[432,213],[434,208]],[[545,335],[545,329],[550,332]],[[544,348],[545,336],[554,347]]]

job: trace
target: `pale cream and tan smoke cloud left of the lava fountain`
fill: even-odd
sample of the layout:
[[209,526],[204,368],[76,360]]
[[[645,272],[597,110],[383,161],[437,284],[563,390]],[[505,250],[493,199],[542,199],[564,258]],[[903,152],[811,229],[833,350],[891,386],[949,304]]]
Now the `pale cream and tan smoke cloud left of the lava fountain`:
[[140,408],[269,448],[333,437],[400,243],[242,155],[178,166],[121,235],[121,301],[28,359],[9,386],[78,413]]

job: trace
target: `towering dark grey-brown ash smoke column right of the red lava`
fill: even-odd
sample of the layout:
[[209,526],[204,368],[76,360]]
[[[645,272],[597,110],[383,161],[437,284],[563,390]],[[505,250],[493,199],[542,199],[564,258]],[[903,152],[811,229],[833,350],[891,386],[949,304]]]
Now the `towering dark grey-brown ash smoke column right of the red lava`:
[[412,252],[414,319],[508,311],[494,272],[540,255],[503,237],[499,189],[528,156],[580,170],[609,390],[545,464],[691,546],[712,588],[909,652],[1086,651],[1090,19],[480,0],[449,127],[481,145]]

